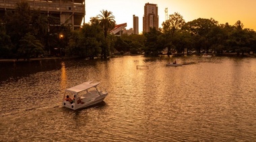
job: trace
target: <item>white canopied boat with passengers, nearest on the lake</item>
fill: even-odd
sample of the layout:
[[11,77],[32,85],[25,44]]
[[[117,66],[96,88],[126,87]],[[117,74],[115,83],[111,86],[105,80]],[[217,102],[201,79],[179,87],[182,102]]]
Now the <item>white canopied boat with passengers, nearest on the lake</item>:
[[100,82],[84,82],[77,86],[67,88],[63,96],[63,106],[69,109],[82,109],[98,102],[102,102],[108,95],[106,89],[99,87]]

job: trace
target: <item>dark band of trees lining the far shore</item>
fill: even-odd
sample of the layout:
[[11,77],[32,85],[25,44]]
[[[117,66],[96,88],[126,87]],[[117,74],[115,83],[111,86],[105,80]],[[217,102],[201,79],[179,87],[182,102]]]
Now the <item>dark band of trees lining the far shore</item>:
[[[113,54],[191,54],[201,52],[222,55],[234,52],[243,55],[256,52],[256,33],[215,19],[198,18],[185,22],[179,13],[169,15],[157,31],[114,36],[115,16],[102,10],[80,29],[71,31],[68,22],[59,23],[53,15],[30,9],[28,3],[17,3],[14,11],[0,18],[0,58],[38,58],[43,56],[75,56],[107,58]],[[59,25],[59,26],[53,26]]]

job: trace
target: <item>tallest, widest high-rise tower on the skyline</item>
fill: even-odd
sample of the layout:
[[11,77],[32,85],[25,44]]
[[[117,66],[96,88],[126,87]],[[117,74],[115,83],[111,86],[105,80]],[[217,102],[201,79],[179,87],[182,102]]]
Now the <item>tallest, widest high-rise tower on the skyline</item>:
[[155,27],[158,30],[158,21],[158,5],[146,3],[144,6],[143,32],[150,31],[150,27]]

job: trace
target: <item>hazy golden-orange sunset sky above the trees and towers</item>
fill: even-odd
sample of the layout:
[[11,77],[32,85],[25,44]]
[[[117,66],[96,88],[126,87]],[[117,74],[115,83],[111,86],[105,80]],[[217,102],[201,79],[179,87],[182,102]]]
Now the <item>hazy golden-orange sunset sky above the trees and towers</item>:
[[256,0],[86,0],[85,22],[90,17],[101,14],[100,11],[111,11],[117,24],[127,23],[126,29],[133,28],[133,15],[139,17],[139,33],[142,32],[142,21],[145,3],[158,5],[159,26],[165,21],[164,10],[168,15],[174,12],[183,16],[186,22],[198,18],[214,18],[219,23],[228,22],[234,25],[240,20],[244,28],[256,31]]

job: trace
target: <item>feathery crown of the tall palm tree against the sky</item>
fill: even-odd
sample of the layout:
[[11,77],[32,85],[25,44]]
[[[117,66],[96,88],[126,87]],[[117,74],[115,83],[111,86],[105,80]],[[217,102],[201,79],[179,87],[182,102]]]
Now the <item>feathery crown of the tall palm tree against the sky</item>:
[[108,32],[111,29],[115,28],[115,23],[116,23],[115,16],[112,15],[111,11],[102,10],[100,12],[101,12],[101,15],[98,15],[98,19],[100,21],[100,26],[104,30],[104,36],[106,38],[106,36],[108,35]]

